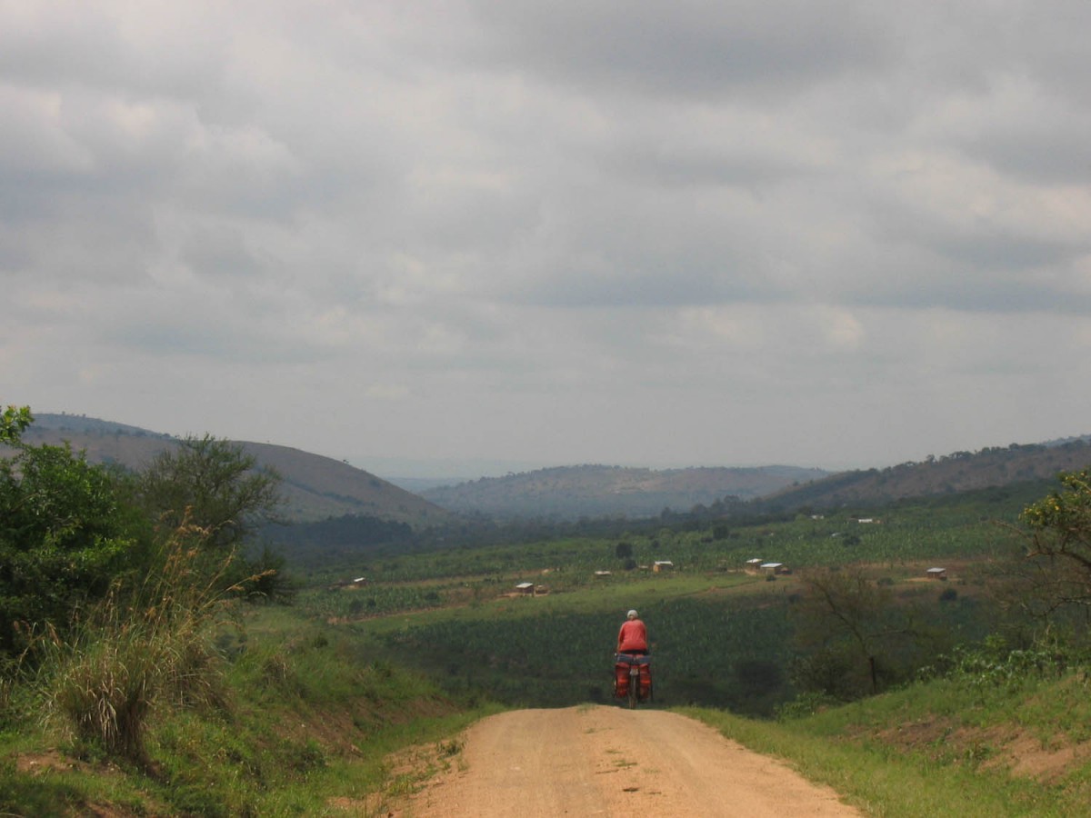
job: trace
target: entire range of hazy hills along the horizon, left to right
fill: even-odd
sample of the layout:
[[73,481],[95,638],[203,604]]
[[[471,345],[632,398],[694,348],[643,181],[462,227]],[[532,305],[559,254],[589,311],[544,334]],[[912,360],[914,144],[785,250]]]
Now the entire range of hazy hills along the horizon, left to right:
[[[140,469],[178,440],[136,426],[74,414],[39,414],[27,443],[71,442],[95,462]],[[656,517],[726,501],[756,508],[877,506],[911,497],[955,494],[1012,483],[1046,481],[1060,471],[1091,467],[1091,443],[1072,437],[956,452],[885,469],[831,473],[791,466],[652,470],[618,466],[540,469],[458,485],[433,486],[419,495],[349,464],[287,446],[242,443],[284,478],[286,516],[316,522],[348,515],[405,522],[420,530],[458,515],[494,519]]]

